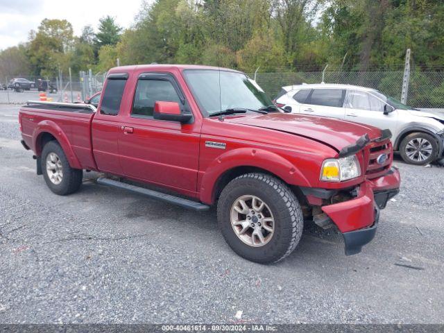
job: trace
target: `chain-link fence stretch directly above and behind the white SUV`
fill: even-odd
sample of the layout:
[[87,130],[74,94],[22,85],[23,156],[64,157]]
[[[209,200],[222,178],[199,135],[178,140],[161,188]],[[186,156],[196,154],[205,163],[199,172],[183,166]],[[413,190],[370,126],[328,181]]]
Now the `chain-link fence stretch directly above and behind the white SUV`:
[[[401,99],[403,71],[325,71],[325,83],[361,85]],[[251,78],[255,74],[249,74]],[[257,83],[271,97],[287,85],[321,83],[322,71],[257,73]],[[407,104],[413,108],[444,108],[444,71],[410,73]]]

